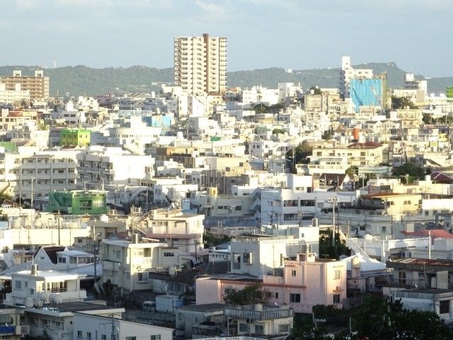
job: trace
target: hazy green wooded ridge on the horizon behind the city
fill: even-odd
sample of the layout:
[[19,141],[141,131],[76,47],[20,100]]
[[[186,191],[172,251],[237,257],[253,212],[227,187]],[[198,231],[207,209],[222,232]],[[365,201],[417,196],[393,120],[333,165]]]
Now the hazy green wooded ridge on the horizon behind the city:
[[[374,74],[386,72],[387,86],[392,89],[403,86],[405,71],[399,69],[394,62],[371,62],[355,65],[355,68],[373,69]],[[13,74],[13,69],[21,69],[24,75],[33,74],[41,67],[2,66],[0,77]],[[173,81],[173,68],[156,69],[154,67],[107,67],[93,69],[86,66],[57,67],[45,69],[50,77],[50,94],[52,96],[91,95],[96,96],[113,92],[125,94],[130,92],[150,92],[159,89],[159,84]],[[419,78],[423,78],[418,76]],[[228,86],[250,88],[262,85],[276,88],[278,83],[295,82],[304,88],[311,86],[338,87],[340,84],[340,68],[334,69],[301,69],[288,73],[285,69],[272,67],[269,69],[253,69],[249,71],[228,72]],[[447,86],[453,86],[453,77],[435,77],[428,79],[428,92],[445,92]]]

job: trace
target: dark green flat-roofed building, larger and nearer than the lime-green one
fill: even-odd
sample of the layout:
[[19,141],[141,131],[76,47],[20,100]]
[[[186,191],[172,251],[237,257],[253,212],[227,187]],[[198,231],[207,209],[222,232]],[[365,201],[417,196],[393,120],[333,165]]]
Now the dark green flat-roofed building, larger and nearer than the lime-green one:
[[52,191],[48,212],[68,215],[102,215],[108,212],[107,192],[98,190]]

